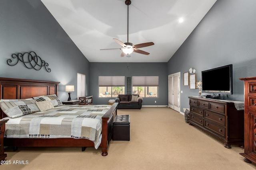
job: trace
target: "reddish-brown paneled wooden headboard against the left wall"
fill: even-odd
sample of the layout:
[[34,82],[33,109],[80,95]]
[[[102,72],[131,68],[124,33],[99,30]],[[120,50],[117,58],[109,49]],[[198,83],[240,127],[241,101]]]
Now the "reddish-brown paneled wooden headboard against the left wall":
[[[36,96],[58,96],[60,82],[0,78],[0,99],[27,99]],[[2,117],[2,110],[0,118]]]

